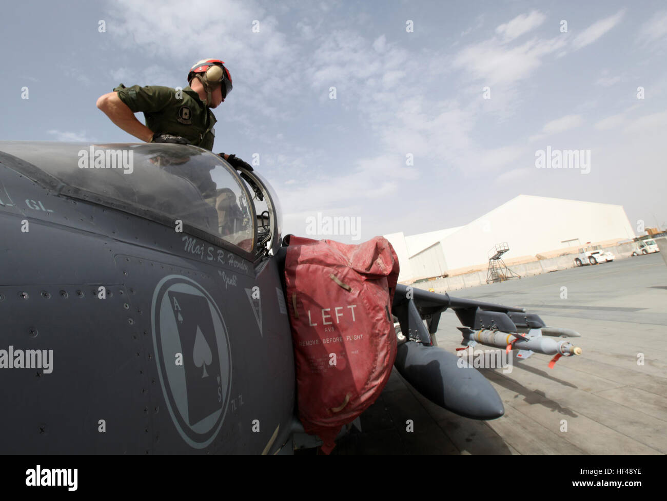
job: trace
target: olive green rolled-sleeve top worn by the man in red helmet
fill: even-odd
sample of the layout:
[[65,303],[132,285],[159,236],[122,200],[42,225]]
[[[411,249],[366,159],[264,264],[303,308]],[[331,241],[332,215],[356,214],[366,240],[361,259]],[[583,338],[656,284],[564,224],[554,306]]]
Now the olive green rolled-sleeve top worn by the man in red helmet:
[[213,149],[215,115],[190,87],[180,92],[161,85],[125,87],[121,83],[113,89],[133,113],[143,111],[146,127],[153,133],[171,134],[187,139],[191,145]]

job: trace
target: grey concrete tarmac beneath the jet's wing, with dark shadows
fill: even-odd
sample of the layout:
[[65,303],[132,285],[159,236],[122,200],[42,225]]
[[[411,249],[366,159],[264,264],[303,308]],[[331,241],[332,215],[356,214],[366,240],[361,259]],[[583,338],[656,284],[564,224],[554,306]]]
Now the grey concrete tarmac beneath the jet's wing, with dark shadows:
[[[333,454],[667,453],[667,266],[660,254],[457,290],[452,296],[524,306],[548,326],[577,330],[581,356],[533,354],[512,372],[480,369],[505,415],[476,421],[421,396],[394,369],[361,416],[362,432]],[[454,312],[436,338],[461,347]],[[492,349],[485,346],[476,348]],[[516,358],[514,359],[516,360]],[[412,422],[412,431],[408,431]]]

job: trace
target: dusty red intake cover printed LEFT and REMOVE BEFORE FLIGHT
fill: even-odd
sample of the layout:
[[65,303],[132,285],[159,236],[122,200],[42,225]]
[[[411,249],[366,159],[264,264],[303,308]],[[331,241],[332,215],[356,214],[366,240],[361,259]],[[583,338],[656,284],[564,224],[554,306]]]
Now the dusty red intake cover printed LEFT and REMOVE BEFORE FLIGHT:
[[299,419],[331,452],[380,396],[396,358],[398,257],[382,237],[345,245],[290,237],[285,258]]

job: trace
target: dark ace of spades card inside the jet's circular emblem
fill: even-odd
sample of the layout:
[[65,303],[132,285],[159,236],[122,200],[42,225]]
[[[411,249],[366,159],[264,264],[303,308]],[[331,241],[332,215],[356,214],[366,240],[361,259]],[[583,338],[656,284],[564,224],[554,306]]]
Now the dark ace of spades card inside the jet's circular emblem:
[[187,420],[193,426],[220,408],[220,359],[207,298],[169,291],[183,350]]

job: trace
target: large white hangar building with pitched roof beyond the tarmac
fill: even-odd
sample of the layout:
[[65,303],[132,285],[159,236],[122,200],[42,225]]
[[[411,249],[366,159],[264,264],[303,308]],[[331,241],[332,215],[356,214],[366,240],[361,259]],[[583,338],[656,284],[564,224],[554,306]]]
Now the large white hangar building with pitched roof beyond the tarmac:
[[634,236],[622,205],[519,195],[465,226],[384,237],[398,255],[399,280],[411,282],[481,268],[499,243],[508,243],[503,259],[510,264]]

